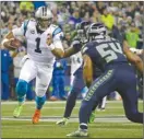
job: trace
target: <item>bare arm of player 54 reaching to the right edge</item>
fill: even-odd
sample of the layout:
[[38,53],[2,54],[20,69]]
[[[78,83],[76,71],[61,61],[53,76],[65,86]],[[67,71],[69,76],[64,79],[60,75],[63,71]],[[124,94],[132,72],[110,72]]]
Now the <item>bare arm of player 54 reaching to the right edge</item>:
[[127,56],[128,60],[132,63],[135,65],[136,69],[143,73],[143,68],[144,68],[144,63],[142,61],[142,59],[135,55],[134,53],[132,53],[130,49],[129,49],[129,46],[128,46],[128,43],[124,42],[123,43],[123,51],[124,51],[124,55]]

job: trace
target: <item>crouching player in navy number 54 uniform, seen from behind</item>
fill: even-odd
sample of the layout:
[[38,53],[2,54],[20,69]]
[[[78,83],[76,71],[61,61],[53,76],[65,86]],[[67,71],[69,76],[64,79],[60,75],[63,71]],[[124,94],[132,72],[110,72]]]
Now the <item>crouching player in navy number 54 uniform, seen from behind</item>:
[[[106,35],[106,27],[103,24],[93,23],[87,34],[89,43],[83,47],[82,54],[84,58],[83,74],[89,90],[80,108],[80,128],[68,136],[87,136],[87,121],[93,106],[113,91],[118,91],[122,96],[128,119],[142,124],[143,113],[137,111],[136,78],[134,69],[127,60],[127,58],[130,60],[131,55],[128,55],[125,49],[122,50],[118,40]],[[101,69],[104,73],[92,82],[93,65]]]

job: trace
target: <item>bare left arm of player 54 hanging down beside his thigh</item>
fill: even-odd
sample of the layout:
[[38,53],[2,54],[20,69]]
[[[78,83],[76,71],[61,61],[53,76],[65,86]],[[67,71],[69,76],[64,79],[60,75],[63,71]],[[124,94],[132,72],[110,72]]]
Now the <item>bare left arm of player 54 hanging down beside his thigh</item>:
[[93,82],[93,63],[91,58],[87,55],[83,55],[83,77],[86,83],[86,86],[89,88]]

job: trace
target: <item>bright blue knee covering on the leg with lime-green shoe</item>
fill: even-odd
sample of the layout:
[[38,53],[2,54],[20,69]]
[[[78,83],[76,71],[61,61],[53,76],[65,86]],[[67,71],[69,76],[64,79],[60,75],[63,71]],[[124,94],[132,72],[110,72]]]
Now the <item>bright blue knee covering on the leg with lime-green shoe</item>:
[[20,79],[15,90],[17,96],[23,97],[26,94],[27,90],[28,90],[28,83]]

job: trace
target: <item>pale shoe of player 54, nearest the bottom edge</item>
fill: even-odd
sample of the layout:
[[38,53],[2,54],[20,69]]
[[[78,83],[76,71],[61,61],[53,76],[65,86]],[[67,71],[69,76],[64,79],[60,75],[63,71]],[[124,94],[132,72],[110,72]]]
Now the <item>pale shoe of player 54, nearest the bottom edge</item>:
[[67,135],[67,137],[87,137],[88,132],[85,129],[79,129],[74,132]]

